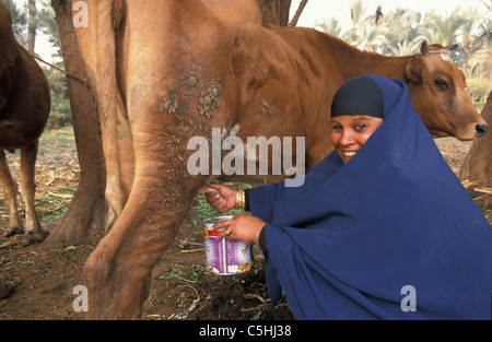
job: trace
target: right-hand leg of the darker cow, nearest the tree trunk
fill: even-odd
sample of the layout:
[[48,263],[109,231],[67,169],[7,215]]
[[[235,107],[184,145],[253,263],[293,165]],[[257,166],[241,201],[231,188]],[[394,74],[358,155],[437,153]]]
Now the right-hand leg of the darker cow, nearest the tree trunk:
[[37,143],[36,140],[21,150],[21,192],[25,203],[26,239],[30,244],[40,243],[48,236],[40,227],[34,207]]

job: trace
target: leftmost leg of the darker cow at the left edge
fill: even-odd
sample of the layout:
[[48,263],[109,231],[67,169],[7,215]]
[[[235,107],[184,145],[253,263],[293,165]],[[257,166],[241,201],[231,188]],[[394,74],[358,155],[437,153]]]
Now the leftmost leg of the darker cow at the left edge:
[[4,236],[12,236],[14,234],[24,233],[21,216],[19,215],[17,193],[19,188],[15,179],[9,170],[5,153],[0,151],[0,182],[2,191],[5,196],[7,205],[9,207],[9,226],[4,232]]

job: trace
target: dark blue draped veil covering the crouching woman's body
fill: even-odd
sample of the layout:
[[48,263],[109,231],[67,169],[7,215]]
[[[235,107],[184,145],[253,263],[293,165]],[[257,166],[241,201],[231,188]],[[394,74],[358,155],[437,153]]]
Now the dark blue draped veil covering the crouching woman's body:
[[[490,319],[491,227],[443,160],[407,85],[370,78],[385,120],[347,165],[251,189],[267,284],[296,319]],[[414,306],[414,307],[413,307]]]

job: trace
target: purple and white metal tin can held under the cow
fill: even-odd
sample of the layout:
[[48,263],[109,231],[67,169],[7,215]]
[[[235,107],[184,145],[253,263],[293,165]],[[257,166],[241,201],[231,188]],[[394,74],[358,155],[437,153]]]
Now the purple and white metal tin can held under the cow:
[[204,250],[207,270],[221,275],[247,272],[253,268],[251,244],[224,237],[219,241],[219,231],[210,231],[218,222],[233,216],[212,217],[204,221]]

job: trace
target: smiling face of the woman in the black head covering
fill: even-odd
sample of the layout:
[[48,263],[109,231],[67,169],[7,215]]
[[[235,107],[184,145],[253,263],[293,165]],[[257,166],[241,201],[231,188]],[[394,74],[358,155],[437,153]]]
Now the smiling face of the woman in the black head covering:
[[362,149],[383,119],[370,116],[342,115],[331,118],[330,139],[343,164]]

